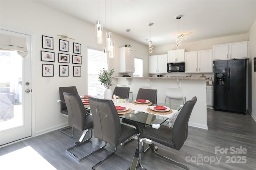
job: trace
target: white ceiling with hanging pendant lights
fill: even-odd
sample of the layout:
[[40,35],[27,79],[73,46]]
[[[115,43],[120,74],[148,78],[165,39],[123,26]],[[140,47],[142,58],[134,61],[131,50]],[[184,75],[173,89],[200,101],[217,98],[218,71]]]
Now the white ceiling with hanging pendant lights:
[[[35,0],[40,4],[152,46],[248,33],[256,20],[256,0]],[[99,9],[99,10],[98,10]],[[177,20],[176,16],[182,18]],[[148,26],[148,23],[154,23]],[[110,25],[110,26],[109,26]],[[126,32],[126,29],[131,29]],[[63,30],[63,32],[65,32]],[[114,37],[113,37],[114,38]]]

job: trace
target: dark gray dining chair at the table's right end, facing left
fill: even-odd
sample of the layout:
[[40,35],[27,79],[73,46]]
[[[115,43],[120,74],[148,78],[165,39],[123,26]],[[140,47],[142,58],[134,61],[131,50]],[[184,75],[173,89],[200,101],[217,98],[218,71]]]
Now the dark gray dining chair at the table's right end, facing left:
[[154,129],[152,127],[144,128],[143,132],[140,133],[140,143],[138,152],[138,161],[140,167],[144,169],[141,163],[141,152],[144,143],[151,144],[151,149],[158,156],[176,164],[182,168],[189,169],[187,166],[176,162],[166,156],[162,156],[156,152],[154,145],[166,146],[168,148],[180,150],[184,142],[188,137],[188,120],[190,118],[191,112],[196,104],[196,96],[191,100],[187,101],[182,107],[180,113],[178,114],[174,125],[172,128],[166,126],[160,126],[159,129]]

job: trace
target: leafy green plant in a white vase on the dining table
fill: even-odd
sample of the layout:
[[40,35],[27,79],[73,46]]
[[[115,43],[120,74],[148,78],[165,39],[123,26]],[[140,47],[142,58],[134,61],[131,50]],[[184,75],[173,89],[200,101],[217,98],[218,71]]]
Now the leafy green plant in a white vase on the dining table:
[[101,84],[104,85],[104,87],[106,88],[105,90],[105,99],[112,99],[112,91],[110,90],[110,86],[112,86],[112,75],[114,74],[114,68],[110,67],[110,71],[105,70],[105,68],[103,68],[103,70],[100,70],[99,73],[99,82],[101,82]]

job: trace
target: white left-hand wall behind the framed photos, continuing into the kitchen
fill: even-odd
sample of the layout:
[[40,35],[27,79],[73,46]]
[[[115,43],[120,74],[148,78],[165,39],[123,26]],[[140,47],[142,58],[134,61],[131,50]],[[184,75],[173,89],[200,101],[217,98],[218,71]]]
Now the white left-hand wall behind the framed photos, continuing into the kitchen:
[[[98,47],[102,49],[103,45],[96,43],[95,25],[86,23],[77,18],[73,18],[56,10],[52,10],[46,6],[38,4],[34,1],[2,1],[0,5],[0,24],[1,28],[8,28],[10,31],[20,30],[22,33],[30,32],[34,36],[34,54],[32,58],[32,72],[34,72],[35,84],[32,85],[32,100],[33,110],[32,114],[35,119],[32,120],[35,124],[35,134],[45,133],[67,124],[68,119],[60,114],[60,104],[57,103],[59,99],[58,88],[60,86],[76,86],[78,93],[81,95],[87,94],[87,46]],[[58,63],[58,48],[59,36],[68,35],[74,38],[65,39],[69,41],[70,63]],[[54,50],[42,49],[42,35],[54,38]],[[127,44],[127,38],[120,35],[113,34],[115,41],[115,54],[116,58],[110,59],[109,66],[116,68],[115,74],[118,72],[118,47]],[[147,47],[132,40],[129,40],[135,49],[136,55],[143,58],[147,64]],[[73,42],[82,44],[82,64],[72,64]],[[54,64],[54,76],[42,77],[42,62],[40,61],[40,51],[53,51],[55,52],[55,62],[48,63]],[[59,76],[59,65],[69,65],[69,76]],[[82,66],[82,76],[73,77],[73,66]],[[47,80],[50,82],[47,83]]]

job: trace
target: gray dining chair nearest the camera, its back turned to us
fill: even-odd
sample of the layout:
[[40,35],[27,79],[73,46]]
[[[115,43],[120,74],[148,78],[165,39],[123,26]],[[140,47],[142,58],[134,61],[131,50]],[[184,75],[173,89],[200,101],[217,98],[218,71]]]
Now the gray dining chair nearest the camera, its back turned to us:
[[116,152],[119,144],[136,136],[137,130],[120,123],[112,100],[89,97],[89,103],[94,123],[94,137],[115,147],[113,152],[92,167],[95,169]]

